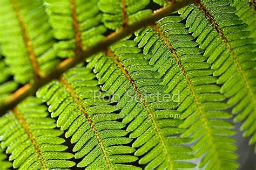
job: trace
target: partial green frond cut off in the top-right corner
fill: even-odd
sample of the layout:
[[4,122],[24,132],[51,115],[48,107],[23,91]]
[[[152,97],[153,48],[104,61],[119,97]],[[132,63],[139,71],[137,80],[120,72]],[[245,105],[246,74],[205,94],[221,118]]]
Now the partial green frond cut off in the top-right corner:
[[250,5],[247,0],[233,0],[231,1],[231,6],[234,6],[237,11],[235,14],[248,26],[246,31],[250,31],[250,38],[254,38],[254,43],[256,40],[256,11]]

